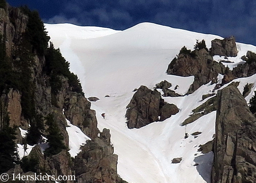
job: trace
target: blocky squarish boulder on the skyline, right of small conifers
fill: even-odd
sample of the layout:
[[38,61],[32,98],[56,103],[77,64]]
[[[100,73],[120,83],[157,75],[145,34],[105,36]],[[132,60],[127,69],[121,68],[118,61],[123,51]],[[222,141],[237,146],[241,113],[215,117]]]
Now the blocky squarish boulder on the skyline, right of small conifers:
[[237,49],[235,44],[235,37],[231,36],[223,40],[212,40],[211,55],[220,55],[226,57],[236,57]]

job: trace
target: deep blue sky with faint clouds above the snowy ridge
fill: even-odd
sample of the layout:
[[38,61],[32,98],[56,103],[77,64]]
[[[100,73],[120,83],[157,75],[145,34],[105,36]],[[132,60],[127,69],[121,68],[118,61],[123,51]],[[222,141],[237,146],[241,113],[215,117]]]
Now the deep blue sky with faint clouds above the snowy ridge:
[[255,0],[7,0],[38,10],[45,23],[123,30],[153,22],[256,45]]

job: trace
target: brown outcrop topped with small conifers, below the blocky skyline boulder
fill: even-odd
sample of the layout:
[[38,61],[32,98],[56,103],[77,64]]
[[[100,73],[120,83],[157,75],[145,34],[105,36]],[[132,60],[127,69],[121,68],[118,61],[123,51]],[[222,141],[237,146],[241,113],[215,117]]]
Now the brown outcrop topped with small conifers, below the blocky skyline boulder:
[[193,84],[190,85],[188,94],[193,93],[201,85],[217,78],[218,73],[224,73],[225,66],[213,60],[212,56],[205,50],[194,51],[195,56],[181,53],[169,64],[167,73],[177,76],[195,76]]

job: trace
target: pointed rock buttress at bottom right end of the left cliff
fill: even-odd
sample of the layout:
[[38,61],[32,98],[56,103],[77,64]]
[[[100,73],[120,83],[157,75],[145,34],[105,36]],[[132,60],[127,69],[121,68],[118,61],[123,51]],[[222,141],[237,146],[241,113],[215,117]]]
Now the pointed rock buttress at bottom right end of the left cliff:
[[103,129],[100,137],[88,141],[74,160],[76,180],[78,183],[118,183],[117,155],[110,145],[109,130]]

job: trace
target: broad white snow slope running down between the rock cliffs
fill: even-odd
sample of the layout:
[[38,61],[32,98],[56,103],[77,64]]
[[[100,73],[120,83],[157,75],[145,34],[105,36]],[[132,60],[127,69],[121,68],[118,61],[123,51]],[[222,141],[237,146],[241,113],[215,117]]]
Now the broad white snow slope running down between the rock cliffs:
[[[216,35],[194,33],[167,26],[140,23],[132,28],[116,31],[98,27],[81,27],[71,24],[45,24],[51,41],[60,47],[63,56],[71,63],[71,71],[81,80],[86,97],[96,96],[92,102],[96,110],[98,128],[111,130],[111,141],[118,154],[118,174],[128,182],[136,183],[205,183],[210,181],[212,153],[197,152],[198,146],[212,140],[215,134],[216,112],[212,112],[187,125],[189,134],[201,131],[197,138],[184,139],[185,127],[180,126],[191,110],[201,105],[202,95],[212,93],[210,83],[201,86],[193,94],[165,101],[178,106],[180,112],[164,122],[155,122],[140,129],[126,126],[126,106],[133,96],[133,89],[140,85],[153,88],[166,79],[177,84],[178,93],[184,94],[194,77],[166,75],[168,64],[181,47],[193,49],[196,40],[221,38]],[[242,60],[247,50],[256,47],[237,43],[239,56],[228,58],[235,63]],[[221,60],[224,58],[217,58]],[[221,78],[221,75],[219,76]],[[255,83],[256,76],[237,79],[239,89]],[[255,90],[256,84],[253,86]],[[215,93],[217,90],[215,91]],[[110,98],[104,98],[110,95]],[[247,96],[249,101],[253,91]],[[106,113],[106,120],[100,114]],[[182,157],[179,164],[171,164],[173,158]],[[193,166],[195,164],[197,166]]]

